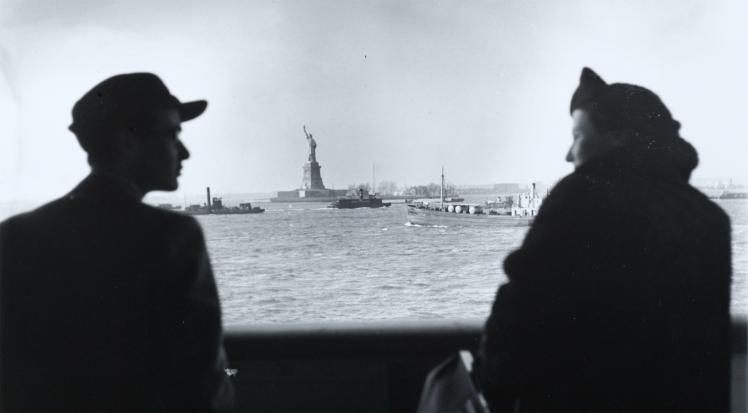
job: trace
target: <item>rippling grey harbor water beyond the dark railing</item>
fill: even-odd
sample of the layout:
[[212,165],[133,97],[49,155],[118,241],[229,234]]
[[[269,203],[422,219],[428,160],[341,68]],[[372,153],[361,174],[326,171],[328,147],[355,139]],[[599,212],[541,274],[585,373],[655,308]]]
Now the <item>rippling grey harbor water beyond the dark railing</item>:
[[[745,317],[748,200],[717,202],[732,220],[732,312]],[[527,231],[412,226],[403,204],[257,205],[266,212],[197,217],[226,325],[484,318]]]

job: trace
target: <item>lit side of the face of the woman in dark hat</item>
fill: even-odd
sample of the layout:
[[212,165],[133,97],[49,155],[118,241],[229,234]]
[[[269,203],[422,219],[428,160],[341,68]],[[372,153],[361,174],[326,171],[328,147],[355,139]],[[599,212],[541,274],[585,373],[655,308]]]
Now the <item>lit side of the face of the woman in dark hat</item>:
[[575,109],[571,117],[573,119],[571,133],[574,140],[566,154],[567,162],[579,168],[590,159],[613,149],[613,138],[608,134],[600,133],[588,111]]

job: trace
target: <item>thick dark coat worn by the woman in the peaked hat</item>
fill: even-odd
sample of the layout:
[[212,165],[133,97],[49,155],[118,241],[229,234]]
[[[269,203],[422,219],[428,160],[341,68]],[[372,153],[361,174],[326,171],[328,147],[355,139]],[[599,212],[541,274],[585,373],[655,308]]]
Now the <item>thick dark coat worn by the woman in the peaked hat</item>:
[[554,187],[486,323],[493,410],[729,409],[730,223],[687,180],[619,149]]

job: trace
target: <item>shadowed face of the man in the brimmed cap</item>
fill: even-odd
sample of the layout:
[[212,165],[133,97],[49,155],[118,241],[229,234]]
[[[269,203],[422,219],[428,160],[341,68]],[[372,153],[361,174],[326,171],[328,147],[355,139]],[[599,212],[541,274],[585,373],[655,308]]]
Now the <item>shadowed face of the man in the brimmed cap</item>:
[[165,130],[143,130],[137,140],[135,177],[138,185],[147,191],[174,191],[179,186],[177,178],[182,161],[190,153],[179,140],[179,126]]

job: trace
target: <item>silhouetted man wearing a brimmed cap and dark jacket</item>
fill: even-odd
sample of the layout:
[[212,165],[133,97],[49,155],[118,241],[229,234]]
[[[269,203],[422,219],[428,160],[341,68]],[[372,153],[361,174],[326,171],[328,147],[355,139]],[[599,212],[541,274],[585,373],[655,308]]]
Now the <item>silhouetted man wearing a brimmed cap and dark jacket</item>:
[[150,73],[111,77],[73,107],[91,173],[0,224],[0,402],[6,410],[212,410],[233,396],[202,231],[142,203],[173,191],[189,152],[182,103]]

